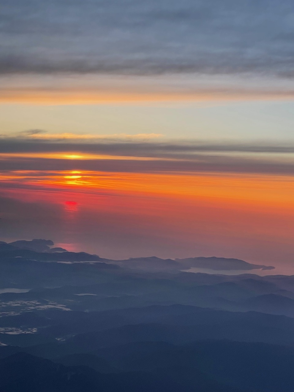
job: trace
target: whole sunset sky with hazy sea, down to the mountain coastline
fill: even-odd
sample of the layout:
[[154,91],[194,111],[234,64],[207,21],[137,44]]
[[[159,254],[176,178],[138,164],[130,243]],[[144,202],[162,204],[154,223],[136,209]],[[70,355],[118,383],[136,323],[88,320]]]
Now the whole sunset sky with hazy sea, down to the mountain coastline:
[[294,273],[292,1],[0,6],[1,240]]

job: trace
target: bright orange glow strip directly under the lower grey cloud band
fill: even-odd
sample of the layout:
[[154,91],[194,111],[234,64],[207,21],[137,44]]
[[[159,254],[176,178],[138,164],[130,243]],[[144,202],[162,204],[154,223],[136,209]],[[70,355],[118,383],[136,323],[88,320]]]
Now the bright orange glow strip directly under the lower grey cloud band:
[[[78,192],[85,198],[96,192],[160,197],[205,203],[250,206],[253,209],[281,209],[294,206],[294,176],[216,174],[216,173],[113,173],[99,171],[11,171],[0,175],[5,188],[17,184],[21,189],[46,189],[46,192]],[[29,190],[27,190],[29,191]],[[186,201],[185,201],[186,200]]]

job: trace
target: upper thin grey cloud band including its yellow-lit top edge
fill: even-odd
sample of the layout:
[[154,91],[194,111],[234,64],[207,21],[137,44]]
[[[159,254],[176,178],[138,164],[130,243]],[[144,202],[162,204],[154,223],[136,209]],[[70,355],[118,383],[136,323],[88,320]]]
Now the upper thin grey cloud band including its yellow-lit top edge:
[[[17,134],[0,134],[0,152],[59,152],[81,151],[113,153],[133,156],[152,156],[169,152],[256,152],[294,153],[292,140],[236,141],[177,139],[168,140],[158,133],[149,134],[52,134],[42,129],[21,131]],[[132,140],[133,139],[133,140]],[[146,140],[145,140],[146,139]],[[159,139],[150,142],[148,139]],[[93,143],[94,142],[94,143]],[[147,154],[147,155],[141,155]],[[148,155],[149,154],[149,155]]]

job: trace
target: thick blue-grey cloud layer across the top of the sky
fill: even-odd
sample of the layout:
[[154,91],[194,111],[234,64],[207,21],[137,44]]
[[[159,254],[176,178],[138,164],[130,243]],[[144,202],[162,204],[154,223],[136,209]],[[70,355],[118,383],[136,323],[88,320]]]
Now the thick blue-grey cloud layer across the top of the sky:
[[291,0],[1,0],[0,73],[294,75]]

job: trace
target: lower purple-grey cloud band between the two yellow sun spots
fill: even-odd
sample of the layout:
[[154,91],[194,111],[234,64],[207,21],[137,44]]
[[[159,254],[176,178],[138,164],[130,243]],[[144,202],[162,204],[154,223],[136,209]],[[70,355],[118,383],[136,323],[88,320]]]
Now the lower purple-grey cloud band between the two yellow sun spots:
[[163,173],[163,172],[213,172],[239,174],[272,174],[294,175],[294,165],[290,163],[270,161],[250,161],[240,157],[201,156],[198,160],[187,161],[134,161],[134,160],[68,160],[45,158],[16,158],[0,160],[1,171],[99,171],[99,172],[133,172],[133,173]]

